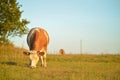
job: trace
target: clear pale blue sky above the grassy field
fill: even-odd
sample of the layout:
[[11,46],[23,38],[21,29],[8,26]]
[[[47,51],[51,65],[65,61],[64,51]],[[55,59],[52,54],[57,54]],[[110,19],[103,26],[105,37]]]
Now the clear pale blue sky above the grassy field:
[[[48,52],[120,53],[120,0],[17,0],[29,29],[41,27],[50,36]],[[26,36],[11,38],[28,48]],[[81,49],[81,47],[82,49]]]

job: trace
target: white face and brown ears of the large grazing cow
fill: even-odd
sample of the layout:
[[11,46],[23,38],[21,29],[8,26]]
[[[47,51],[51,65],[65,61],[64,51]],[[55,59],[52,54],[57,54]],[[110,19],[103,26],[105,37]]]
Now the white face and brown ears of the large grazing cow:
[[36,68],[36,64],[39,61],[39,56],[43,56],[44,52],[30,50],[30,51],[24,51],[23,54],[29,55],[31,68]]

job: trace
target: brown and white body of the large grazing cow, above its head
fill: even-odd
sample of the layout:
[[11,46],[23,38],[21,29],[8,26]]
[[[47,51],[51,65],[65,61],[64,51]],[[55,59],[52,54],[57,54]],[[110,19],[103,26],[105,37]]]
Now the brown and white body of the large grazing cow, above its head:
[[44,29],[32,28],[27,36],[27,43],[30,50],[47,50],[49,35]]

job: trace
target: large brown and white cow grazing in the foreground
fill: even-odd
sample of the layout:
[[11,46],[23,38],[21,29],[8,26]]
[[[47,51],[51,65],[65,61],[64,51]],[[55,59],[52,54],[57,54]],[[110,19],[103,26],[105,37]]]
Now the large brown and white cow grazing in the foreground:
[[30,66],[36,67],[36,64],[41,58],[41,65],[46,67],[46,52],[49,43],[49,35],[42,28],[32,28],[27,36],[27,43],[30,51],[24,51],[24,54],[29,55]]

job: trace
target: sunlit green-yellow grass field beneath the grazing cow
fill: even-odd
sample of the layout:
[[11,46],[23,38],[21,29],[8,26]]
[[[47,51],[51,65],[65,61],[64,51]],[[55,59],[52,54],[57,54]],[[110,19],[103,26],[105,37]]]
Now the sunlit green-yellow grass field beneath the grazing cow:
[[29,68],[23,49],[0,47],[0,80],[120,80],[120,55],[47,55],[47,68]]

